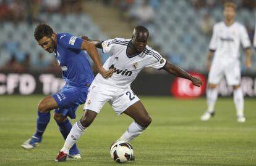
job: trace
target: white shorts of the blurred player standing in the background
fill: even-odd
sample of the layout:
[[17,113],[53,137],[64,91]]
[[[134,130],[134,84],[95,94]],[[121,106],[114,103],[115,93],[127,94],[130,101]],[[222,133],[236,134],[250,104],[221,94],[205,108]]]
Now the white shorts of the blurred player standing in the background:
[[215,59],[211,63],[208,83],[219,84],[226,77],[228,85],[239,85],[241,82],[241,69],[239,60]]

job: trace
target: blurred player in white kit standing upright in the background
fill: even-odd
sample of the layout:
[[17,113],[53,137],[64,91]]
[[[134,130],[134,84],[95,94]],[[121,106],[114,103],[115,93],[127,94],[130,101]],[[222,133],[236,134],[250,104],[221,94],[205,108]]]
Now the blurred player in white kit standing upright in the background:
[[[213,36],[210,41],[210,50],[206,61],[208,76],[207,103],[208,109],[201,116],[202,121],[208,121],[215,114],[215,103],[218,98],[217,85],[223,76],[228,85],[233,86],[234,105],[236,106],[237,122],[245,122],[244,96],[241,89],[241,69],[239,46],[245,49],[245,67],[251,67],[250,40],[243,25],[235,21],[236,4],[224,4],[224,22],[216,23],[213,27]],[[213,54],[214,57],[213,57]],[[213,57],[210,65],[211,57]]]

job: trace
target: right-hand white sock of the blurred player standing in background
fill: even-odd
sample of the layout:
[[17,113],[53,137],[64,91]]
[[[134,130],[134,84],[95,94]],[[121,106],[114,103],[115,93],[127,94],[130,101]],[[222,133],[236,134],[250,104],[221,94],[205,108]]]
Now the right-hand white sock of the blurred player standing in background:
[[244,116],[244,95],[241,87],[233,90],[234,105],[236,106],[236,114],[238,117]]

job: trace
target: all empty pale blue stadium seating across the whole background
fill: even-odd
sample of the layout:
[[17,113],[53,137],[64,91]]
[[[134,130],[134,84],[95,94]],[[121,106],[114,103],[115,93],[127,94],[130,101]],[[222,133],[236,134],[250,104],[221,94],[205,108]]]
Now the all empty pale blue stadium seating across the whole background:
[[[133,13],[141,1],[135,1],[134,7],[130,8]],[[200,32],[200,21],[206,12],[209,12],[215,22],[223,19],[221,6],[212,9],[202,7],[194,9],[190,1],[159,1],[158,8],[155,9],[153,23],[148,25],[153,45],[158,46],[159,52],[169,61],[181,66],[184,69],[205,71],[205,59],[208,52],[210,36],[205,36]],[[237,10],[237,20],[249,28],[254,29],[254,11],[239,8]],[[56,32],[68,32],[77,36],[87,35],[92,39],[107,39],[91,18],[86,14],[41,14],[40,18],[45,20]],[[0,66],[11,58],[11,53],[16,53],[18,60],[23,60],[25,53],[32,55],[32,61],[36,60],[39,52],[45,54],[48,61],[52,61],[54,56],[47,55],[36,45],[33,39],[35,24],[10,23],[6,22],[0,26]],[[7,42],[11,43],[7,44]],[[101,52],[100,52],[101,53]],[[244,59],[244,52],[242,59]],[[102,55],[102,53],[101,53]],[[102,56],[106,60],[106,56]],[[253,58],[255,64],[255,58]],[[244,68],[242,68],[244,70]],[[253,65],[252,72],[256,71]]]

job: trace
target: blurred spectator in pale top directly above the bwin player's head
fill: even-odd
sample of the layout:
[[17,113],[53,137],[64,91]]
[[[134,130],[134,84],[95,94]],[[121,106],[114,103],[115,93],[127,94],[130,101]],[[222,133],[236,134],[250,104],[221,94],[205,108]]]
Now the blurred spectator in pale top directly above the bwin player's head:
[[154,15],[155,12],[153,10],[153,7],[149,5],[148,1],[143,1],[142,6],[137,9],[135,15],[137,19],[137,25],[147,26],[148,24],[153,22]]

